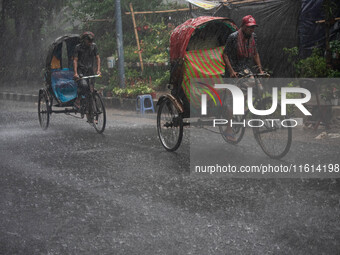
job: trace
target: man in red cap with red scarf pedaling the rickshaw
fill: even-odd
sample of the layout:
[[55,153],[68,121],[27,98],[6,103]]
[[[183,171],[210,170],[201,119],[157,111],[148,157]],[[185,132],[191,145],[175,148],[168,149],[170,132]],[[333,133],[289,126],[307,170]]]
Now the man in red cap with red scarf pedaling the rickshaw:
[[[223,59],[225,62],[225,78],[237,78],[238,73],[248,70],[251,72],[251,67],[255,62],[257,66],[257,72],[263,74],[260,55],[257,51],[256,34],[254,33],[255,27],[257,27],[255,19],[251,15],[243,17],[241,28],[230,34],[226,46],[223,51]],[[247,86],[254,86],[255,79],[253,76],[248,79]],[[232,118],[232,97],[231,94],[227,94],[229,119]],[[227,129],[225,131],[226,138],[235,142],[236,138],[233,130],[228,122]]]

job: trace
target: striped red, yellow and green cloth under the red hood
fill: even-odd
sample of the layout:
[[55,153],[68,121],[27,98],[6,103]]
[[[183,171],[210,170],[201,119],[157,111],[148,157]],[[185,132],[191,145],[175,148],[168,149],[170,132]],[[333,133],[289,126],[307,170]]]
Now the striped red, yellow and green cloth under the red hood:
[[[224,46],[214,49],[188,51],[184,57],[184,77],[182,88],[191,105],[200,105],[202,93],[208,94],[217,104],[220,98],[213,85],[222,83],[224,61],[222,59]],[[195,82],[195,78],[213,78],[210,84]],[[216,99],[217,98],[217,99]],[[222,102],[220,101],[222,104]]]

